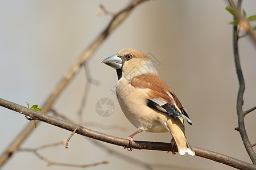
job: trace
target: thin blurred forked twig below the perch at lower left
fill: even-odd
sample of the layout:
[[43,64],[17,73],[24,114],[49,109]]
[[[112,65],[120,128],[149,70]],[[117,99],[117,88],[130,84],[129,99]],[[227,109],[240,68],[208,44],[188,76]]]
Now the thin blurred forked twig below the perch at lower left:
[[46,158],[45,156],[39,154],[39,150],[42,150],[44,148],[47,147],[53,147],[53,146],[58,146],[58,145],[63,145],[65,143],[66,140],[64,141],[60,141],[57,143],[51,143],[49,145],[43,145],[43,146],[39,146],[37,148],[34,149],[30,149],[30,148],[20,148],[18,151],[22,151],[22,152],[33,152],[39,159],[42,159],[44,162],[47,163],[47,165],[61,165],[61,166],[65,166],[65,167],[78,167],[78,168],[85,168],[85,167],[93,167],[96,165],[100,165],[100,164],[106,164],[109,163],[108,160],[104,160],[103,162],[98,162],[98,163],[93,163],[93,164],[85,164],[85,165],[78,165],[78,164],[67,164],[67,163],[58,163],[58,162],[52,162],[51,160],[49,160],[48,158]]

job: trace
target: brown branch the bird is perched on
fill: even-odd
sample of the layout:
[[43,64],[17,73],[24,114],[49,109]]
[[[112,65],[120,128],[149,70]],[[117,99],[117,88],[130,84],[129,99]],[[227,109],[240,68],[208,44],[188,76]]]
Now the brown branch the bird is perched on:
[[[7,101],[0,98],[0,106],[11,109],[12,111],[19,112],[21,114],[27,115],[31,118],[36,120],[40,120],[46,122],[47,124],[51,124],[57,126],[59,128],[63,128],[69,131],[74,131],[76,128],[79,128],[76,133],[80,135],[84,135],[85,137],[93,138],[98,141],[103,141],[107,143],[111,143],[113,145],[118,146],[126,146],[129,147],[129,140],[113,137],[112,135],[107,135],[103,133],[99,133],[97,131],[93,131],[87,128],[84,128],[79,125],[75,125],[69,122],[65,122],[63,120],[59,120],[57,118],[48,116],[46,114],[33,111],[22,105],[18,105],[12,103],[11,101]],[[171,151],[171,143],[162,143],[162,142],[141,142],[141,141],[134,141],[131,144],[131,147],[134,149],[139,150],[158,150],[158,151]],[[223,154],[219,154],[217,152],[204,150],[203,148],[192,147],[193,150],[196,152],[196,156],[200,156],[202,158],[210,159],[218,163],[229,165],[230,167],[238,168],[238,169],[255,169],[256,165],[249,164],[243,162],[238,159],[231,158],[230,156],[226,156]],[[176,150],[174,150],[177,152]]]

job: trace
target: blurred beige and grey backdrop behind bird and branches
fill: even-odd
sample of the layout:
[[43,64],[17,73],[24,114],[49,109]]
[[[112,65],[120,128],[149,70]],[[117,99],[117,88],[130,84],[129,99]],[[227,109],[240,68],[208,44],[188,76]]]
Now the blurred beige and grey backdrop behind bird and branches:
[[[101,31],[112,16],[96,15],[102,3],[117,12],[130,1],[0,1],[0,97],[26,106],[26,102],[42,106],[63,74]],[[232,16],[225,10],[226,1],[148,1],[139,5],[104,41],[86,63],[90,75],[100,82],[92,84],[82,112],[83,120],[102,125],[125,126],[87,128],[126,138],[136,130],[125,118],[115,95],[115,70],[101,63],[123,48],[137,48],[151,53],[158,61],[156,69],[172,88],[188,111],[193,126],[185,125],[192,146],[220,152],[250,162],[237,127],[236,97],[238,80],[233,61]],[[247,16],[255,15],[256,1],[244,1]],[[255,25],[255,23],[253,23]],[[256,101],[256,50],[249,37],[239,40],[241,65],[246,91],[244,110]],[[84,94],[86,76],[81,69],[57,99],[53,108],[74,121]],[[102,98],[114,103],[111,116],[96,113]],[[0,108],[0,152],[28,124],[21,114]],[[256,142],[256,114],[247,114],[245,125],[251,143]],[[71,133],[42,123],[21,148],[35,148],[67,139]],[[168,133],[141,133],[140,141],[170,142]],[[101,142],[102,143],[102,142]],[[133,150],[102,143],[113,151],[152,165],[153,169],[233,169],[197,156],[162,151]],[[107,152],[88,138],[75,134],[64,145],[39,151],[52,162],[92,164],[109,160],[89,169],[146,169]],[[31,152],[17,152],[2,169],[75,169],[47,166]]]

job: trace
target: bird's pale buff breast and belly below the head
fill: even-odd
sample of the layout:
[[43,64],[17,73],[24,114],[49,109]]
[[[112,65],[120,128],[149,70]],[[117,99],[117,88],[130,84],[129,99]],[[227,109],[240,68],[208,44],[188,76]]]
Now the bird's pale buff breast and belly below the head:
[[135,91],[133,88],[125,91],[117,86],[116,92],[123,113],[136,128],[158,133],[168,131],[167,117],[162,112],[147,106],[143,91]]

